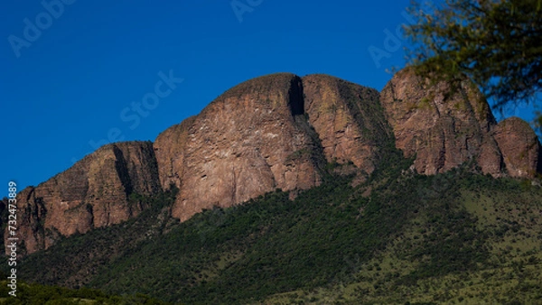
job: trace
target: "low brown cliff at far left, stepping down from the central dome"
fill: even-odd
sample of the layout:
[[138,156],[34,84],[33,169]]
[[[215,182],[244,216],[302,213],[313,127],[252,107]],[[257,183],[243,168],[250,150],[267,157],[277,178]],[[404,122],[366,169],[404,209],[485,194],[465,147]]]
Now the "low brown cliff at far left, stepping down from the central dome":
[[18,234],[26,252],[46,249],[60,236],[109,226],[137,215],[143,207],[130,194],[161,189],[153,144],[108,144],[69,170],[17,196]]

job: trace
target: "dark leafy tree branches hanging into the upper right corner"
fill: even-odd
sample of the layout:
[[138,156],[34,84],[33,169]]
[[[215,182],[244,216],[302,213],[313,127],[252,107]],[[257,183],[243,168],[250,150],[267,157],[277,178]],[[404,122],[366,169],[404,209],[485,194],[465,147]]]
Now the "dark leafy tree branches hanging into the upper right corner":
[[476,83],[494,108],[534,103],[542,88],[542,0],[445,0],[407,25],[409,65],[422,76]]

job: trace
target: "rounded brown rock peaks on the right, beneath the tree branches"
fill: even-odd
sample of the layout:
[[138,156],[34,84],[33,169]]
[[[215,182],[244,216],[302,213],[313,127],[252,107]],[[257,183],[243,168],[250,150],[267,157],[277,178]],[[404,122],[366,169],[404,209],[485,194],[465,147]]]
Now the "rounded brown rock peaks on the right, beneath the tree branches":
[[[397,148],[406,157],[416,156],[419,173],[448,171],[472,160],[494,177],[507,170],[512,177],[532,177],[537,171],[538,143],[532,129],[520,119],[497,125],[487,101],[468,81],[451,89],[444,82],[431,84],[404,69],[388,82],[380,101]],[[523,147],[521,152],[509,147],[512,134],[519,141],[516,145]],[[519,161],[523,152],[528,157]]]

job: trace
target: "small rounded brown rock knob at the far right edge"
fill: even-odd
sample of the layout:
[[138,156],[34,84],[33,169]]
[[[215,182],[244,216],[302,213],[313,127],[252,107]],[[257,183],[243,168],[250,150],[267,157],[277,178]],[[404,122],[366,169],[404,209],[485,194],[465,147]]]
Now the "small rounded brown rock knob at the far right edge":
[[540,143],[537,134],[519,117],[509,117],[495,128],[495,140],[512,177],[532,178],[540,167]]

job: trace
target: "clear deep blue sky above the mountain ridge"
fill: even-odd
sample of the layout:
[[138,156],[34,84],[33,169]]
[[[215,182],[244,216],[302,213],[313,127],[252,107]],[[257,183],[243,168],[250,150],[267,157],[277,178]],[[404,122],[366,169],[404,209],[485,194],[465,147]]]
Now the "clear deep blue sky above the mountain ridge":
[[380,90],[387,69],[404,65],[396,36],[407,5],[4,1],[0,182],[5,193],[9,180],[37,185],[100,144],[154,141],[226,89],[269,73],[326,73]]

